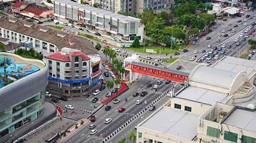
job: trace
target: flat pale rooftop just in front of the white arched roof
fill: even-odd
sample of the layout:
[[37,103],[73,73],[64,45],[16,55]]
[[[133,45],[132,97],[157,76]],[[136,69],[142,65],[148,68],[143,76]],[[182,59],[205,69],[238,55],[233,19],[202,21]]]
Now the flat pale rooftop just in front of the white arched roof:
[[227,94],[214,92],[209,89],[189,86],[183,92],[177,95],[178,98],[188,99],[193,102],[201,102],[204,104],[214,104],[215,102],[224,102]]

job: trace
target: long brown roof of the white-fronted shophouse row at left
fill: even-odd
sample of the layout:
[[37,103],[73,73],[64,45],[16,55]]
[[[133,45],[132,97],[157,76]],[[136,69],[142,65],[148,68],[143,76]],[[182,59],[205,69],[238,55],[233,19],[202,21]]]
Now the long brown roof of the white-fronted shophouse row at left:
[[[93,47],[91,41],[72,34],[65,34],[63,31],[55,31],[53,29],[49,29],[45,32],[40,30],[41,27],[45,29],[44,26],[40,26],[37,24],[32,24],[32,26],[30,27],[24,26],[24,21],[17,20],[16,22],[12,22],[9,21],[6,16],[0,17],[0,27],[4,29],[9,29],[10,31],[15,31],[20,34],[31,36],[35,39],[47,41],[57,46],[59,51],[63,47],[68,47],[70,49],[80,49],[85,54],[97,54],[97,51]],[[58,34],[66,36],[58,36]]]

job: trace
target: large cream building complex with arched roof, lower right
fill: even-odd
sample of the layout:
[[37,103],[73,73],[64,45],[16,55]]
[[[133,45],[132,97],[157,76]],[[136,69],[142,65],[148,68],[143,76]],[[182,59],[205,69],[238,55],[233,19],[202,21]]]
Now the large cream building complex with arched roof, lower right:
[[256,141],[256,61],[197,66],[188,87],[137,126],[137,143]]

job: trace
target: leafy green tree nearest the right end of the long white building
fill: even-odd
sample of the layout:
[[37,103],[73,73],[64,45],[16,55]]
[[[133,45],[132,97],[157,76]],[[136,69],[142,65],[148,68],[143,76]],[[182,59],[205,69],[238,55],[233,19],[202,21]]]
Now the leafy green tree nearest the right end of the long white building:
[[162,18],[155,17],[151,23],[147,26],[147,31],[150,37],[158,44],[163,38],[163,29],[165,28],[165,22]]

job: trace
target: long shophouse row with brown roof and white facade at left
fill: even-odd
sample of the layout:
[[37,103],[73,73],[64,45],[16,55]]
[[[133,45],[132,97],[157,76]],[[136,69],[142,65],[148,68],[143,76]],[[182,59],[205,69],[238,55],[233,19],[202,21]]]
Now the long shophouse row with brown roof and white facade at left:
[[81,49],[86,54],[97,54],[91,41],[87,39],[6,16],[0,17],[0,37],[17,44],[31,41],[33,48],[43,55],[60,51],[63,47]]

